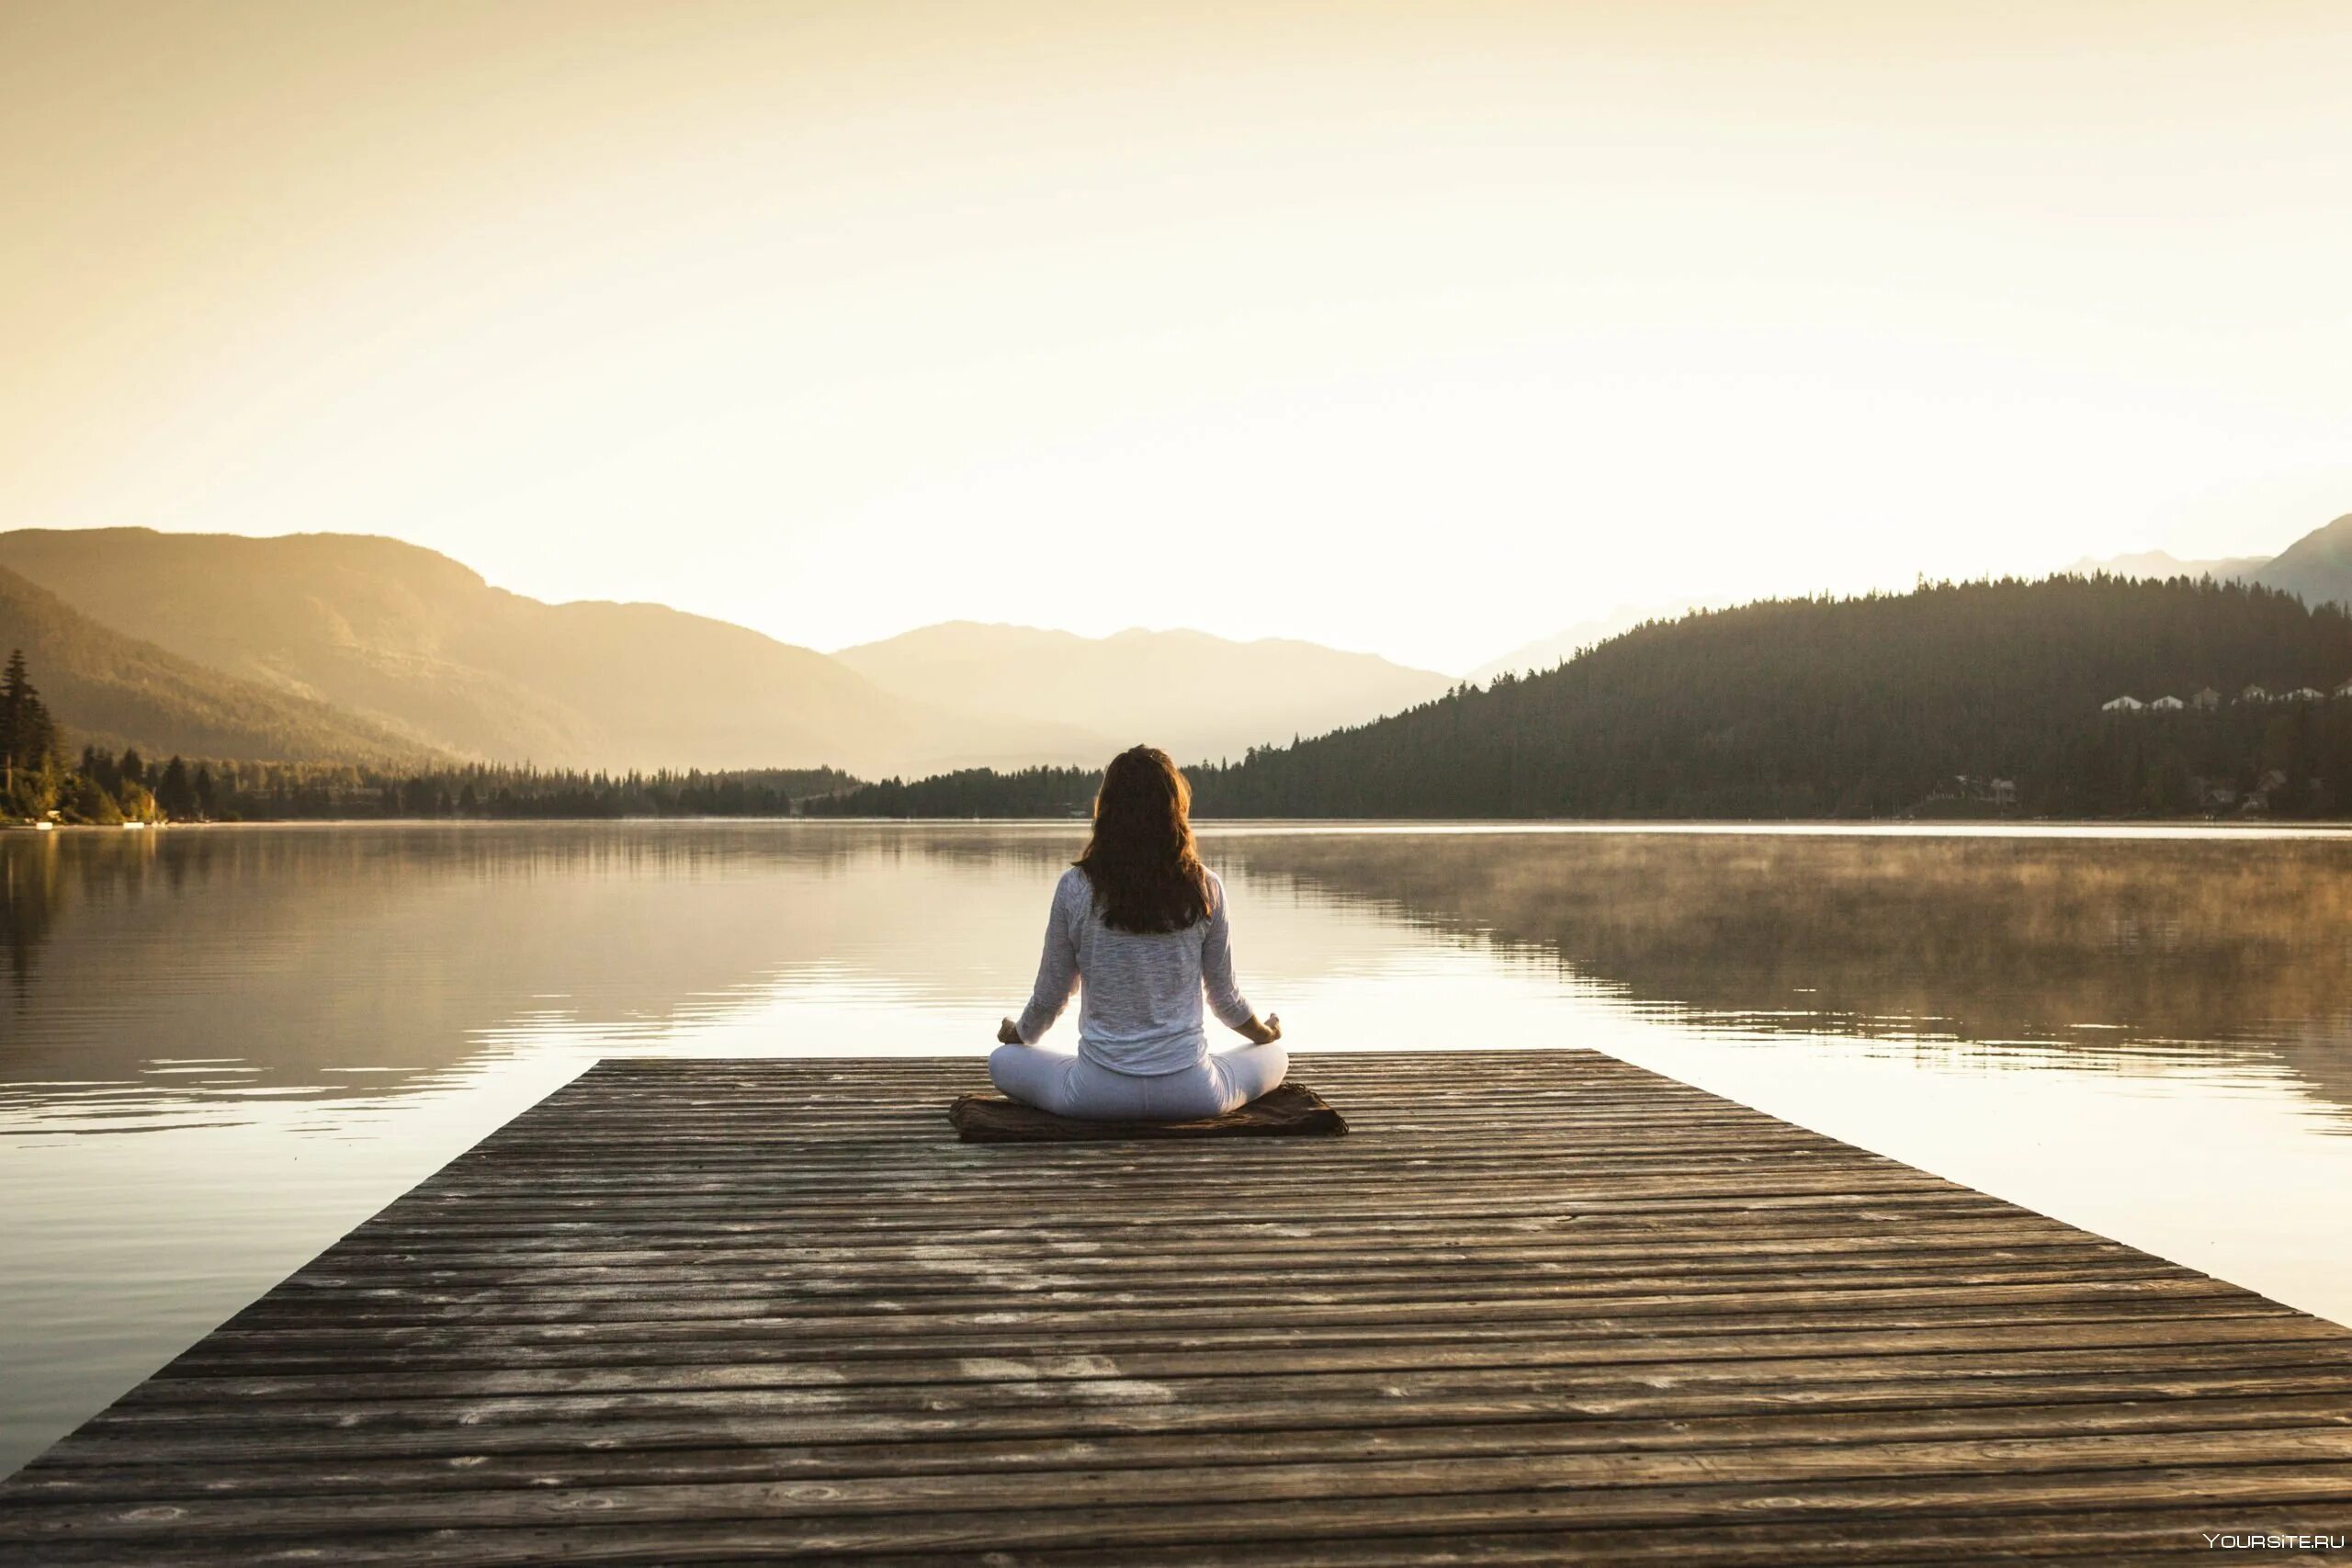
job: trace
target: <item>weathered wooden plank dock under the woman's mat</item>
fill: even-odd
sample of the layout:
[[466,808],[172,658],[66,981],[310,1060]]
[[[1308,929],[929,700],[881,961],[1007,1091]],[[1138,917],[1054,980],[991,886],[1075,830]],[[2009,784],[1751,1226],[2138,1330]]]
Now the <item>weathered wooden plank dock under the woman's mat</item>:
[[2352,1528],[2352,1331],[1588,1051],[1294,1077],[1355,1131],[964,1147],[978,1060],[602,1063],[0,1486],[0,1561],[2117,1563]]

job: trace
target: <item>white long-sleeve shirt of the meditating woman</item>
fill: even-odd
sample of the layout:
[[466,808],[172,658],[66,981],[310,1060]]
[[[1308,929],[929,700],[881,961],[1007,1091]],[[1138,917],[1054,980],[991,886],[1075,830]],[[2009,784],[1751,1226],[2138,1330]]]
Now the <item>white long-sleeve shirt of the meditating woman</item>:
[[1037,1044],[1070,992],[1077,1004],[1077,1053],[1112,1072],[1183,1072],[1209,1056],[1202,1027],[1202,994],[1218,1023],[1251,1020],[1242,987],[1232,983],[1232,936],[1225,922],[1225,884],[1209,872],[1209,919],[1183,931],[1112,931],[1094,905],[1094,884],[1075,865],[1054,884],[1054,912],[1044,926],[1037,985],[1016,1027]]

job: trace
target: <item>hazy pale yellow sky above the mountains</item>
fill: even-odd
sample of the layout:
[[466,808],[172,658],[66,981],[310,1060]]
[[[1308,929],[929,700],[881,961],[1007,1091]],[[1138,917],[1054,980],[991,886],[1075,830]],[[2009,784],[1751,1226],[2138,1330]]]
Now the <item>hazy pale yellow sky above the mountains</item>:
[[2336,0],[0,0],[0,527],[1444,670],[2267,552],[2347,80]]

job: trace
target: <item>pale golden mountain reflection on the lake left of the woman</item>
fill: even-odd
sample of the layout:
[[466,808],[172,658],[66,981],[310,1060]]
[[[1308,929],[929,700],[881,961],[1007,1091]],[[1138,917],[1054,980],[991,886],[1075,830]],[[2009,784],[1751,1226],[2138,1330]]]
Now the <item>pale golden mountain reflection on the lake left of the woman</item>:
[[1018,964],[995,952],[1009,858],[1065,849],[779,825],[5,835],[0,1114],[122,1131],[397,1093],[517,1023],[656,1041],[906,947],[910,907],[938,914],[934,969]]

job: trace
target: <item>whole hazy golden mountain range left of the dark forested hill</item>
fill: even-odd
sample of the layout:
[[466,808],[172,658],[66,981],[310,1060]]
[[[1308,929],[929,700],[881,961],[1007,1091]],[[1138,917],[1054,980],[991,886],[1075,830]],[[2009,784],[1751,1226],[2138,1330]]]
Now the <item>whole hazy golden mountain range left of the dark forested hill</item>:
[[393,538],[0,534],[0,649],[80,741],[583,769],[1242,755],[1442,691],[1296,642],[946,625],[826,656],[661,604],[543,604]]

